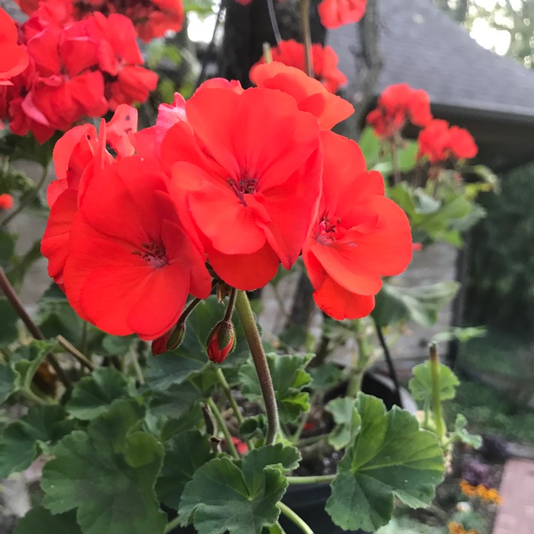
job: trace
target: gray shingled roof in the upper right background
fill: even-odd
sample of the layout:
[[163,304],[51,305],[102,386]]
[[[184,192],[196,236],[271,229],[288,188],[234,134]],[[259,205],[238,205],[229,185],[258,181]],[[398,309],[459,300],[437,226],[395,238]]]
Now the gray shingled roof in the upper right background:
[[[377,92],[392,83],[423,88],[433,105],[534,122],[534,70],[497,56],[430,0],[378,0],[382,68]],[[359,39],[355,27],[330,31],[328,43],[358,90]],[[534,144],[534,143],[533,143]]]

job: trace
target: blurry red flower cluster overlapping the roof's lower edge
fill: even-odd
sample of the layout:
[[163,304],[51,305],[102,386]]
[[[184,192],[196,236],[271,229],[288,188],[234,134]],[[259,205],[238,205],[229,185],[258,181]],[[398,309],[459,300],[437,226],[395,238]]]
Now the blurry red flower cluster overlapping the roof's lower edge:
[[425,126],[431,120],[428,93],[407,83],[389,85],[379,96],[377,108],[367,115],[367,123],[382,138],[394,137],[407,122]]

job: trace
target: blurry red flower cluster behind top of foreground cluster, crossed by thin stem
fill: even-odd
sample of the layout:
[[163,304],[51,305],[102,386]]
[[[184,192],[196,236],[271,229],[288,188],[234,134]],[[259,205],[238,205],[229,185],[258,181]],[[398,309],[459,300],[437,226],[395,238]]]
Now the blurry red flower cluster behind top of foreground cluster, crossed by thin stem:
[[[279,61],[284,65],[305,71],[303,43],[297,43],[293,39],[280,41],[277,46],[271,49],[271,53],[273,61]],[[315,79],[323,83],[330,93],[336,93],[341,85],[347,83],[347,76],[337,68],[338,61],[337,54],[330,46],[323,48],[320,44],[312,45],[312,63]],[[264,58],[261,58],[256,65],[261,63],[265,63]]]

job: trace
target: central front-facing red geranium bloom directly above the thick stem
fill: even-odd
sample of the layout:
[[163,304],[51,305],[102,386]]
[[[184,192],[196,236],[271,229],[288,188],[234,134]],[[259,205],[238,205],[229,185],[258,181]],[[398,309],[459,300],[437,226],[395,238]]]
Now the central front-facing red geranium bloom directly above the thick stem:
[[[164,137],[162,161],[190,233],[229,285],[264,286],[300,254],[318,199],[319,128],[278,90],[204,88],[188,122]],[[173,165],[174,164],[174,165]]]

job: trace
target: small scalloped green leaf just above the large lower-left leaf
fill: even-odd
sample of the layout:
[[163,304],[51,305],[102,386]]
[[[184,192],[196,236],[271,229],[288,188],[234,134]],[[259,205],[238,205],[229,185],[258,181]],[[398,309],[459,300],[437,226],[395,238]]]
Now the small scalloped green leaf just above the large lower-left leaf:
[[73,387],[66,408],[78,419],[95,419],[115,399],[126,397],[130,397],[130,392],[124,375],[114,367],[100,367]]

